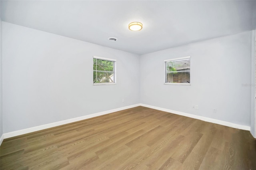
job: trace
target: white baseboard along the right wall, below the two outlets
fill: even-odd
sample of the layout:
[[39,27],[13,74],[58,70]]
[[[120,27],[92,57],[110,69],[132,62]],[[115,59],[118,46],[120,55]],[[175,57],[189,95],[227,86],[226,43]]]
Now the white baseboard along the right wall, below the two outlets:
[[210,122],[210,123],[216,123],[216,124],[224,125],[224,126],[227,126],[227,127],[238,128],[238,129],[249,130],[250,131],[250,127],[245,126],[245,125],[237,125],[235,123],[220,121],[220,120],[217,120],[217,119],[202,117],[202,116],[193,115],[193,114],[184,113],[184,112],[179,112],[179,111],[174,111],[174,110],[170,110],[170,109],[164,109],[164,108],[161,108],[161,107],[155,107],[155,106],[151,106],[151,105],[140,104],[140,106],[148,107],[148,108],[151,108],[151,109],[156,109],[156,110],[160,110],[160,111],[164,111],[164,112],[170,112],[170,113],[174,113],[176,115],[191,117],[191,118],[194,118],[194,119],[199,119],[199,120]]

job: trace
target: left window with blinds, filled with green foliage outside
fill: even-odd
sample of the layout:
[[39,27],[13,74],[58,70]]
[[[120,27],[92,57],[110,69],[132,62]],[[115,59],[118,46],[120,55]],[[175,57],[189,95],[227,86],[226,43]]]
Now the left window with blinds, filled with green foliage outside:
[[116,83],[116,60],[93,56],[93,84],[112,85]]

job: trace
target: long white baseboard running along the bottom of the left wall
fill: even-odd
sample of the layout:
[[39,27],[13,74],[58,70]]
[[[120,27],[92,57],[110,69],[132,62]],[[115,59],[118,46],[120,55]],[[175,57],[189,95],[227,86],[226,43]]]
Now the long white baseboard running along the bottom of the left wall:
[[[31,127],[31,128],[26,128],[26,129],[22,129],[22,130],[13,131],[13,132],[8,132],[8,133],[4,133],[2,136],[4,136],[4,138],[11,138],[11,137],[14,137],[14,136],[18,136],[18,135],[22,135],[22,134],[26,134],[26,133],[30,133],[30,132],[35,132],[35,131],[43,130],[43,129],[46,129],[46,128],[57,127],[57,126],[60,126],[60,125],[65,125],[65,124],[73,123],[73,122],[76,122],[76,121],[82,121],[84,119],[89,119],[89,118],[92,118],[92,117],[106,115],[106,114],[109,114],[109,113],[122,111],[122,110],[125,110],[125,109],[130,109],[132,107],[137,107],[137,106],[140,106],[140,104],[130,105],[130,106],[126,106],[126,107],[120,107],[120,108],[117,108],[117,109],[112,109],[112,110],[108,110],[108,111],[103,111],[103,112],[99,112],[99,113],[85,115],[85,116],[82,116],[82,117],[76,117],[76,118],[72,118],[72,119],[68,119],[68,120],[64,120],[64,121],[49,123],[49,124],[46,124],[46,125],[40,125],[40,126],[37,126],[37,127]],[[2,137],[1,137],[1,139],[2,139]]]

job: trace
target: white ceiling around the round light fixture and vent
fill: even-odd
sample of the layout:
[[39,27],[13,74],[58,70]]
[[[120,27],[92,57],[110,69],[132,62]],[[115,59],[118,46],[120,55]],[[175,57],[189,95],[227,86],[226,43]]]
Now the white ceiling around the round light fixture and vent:
[[[255,1],[1,0],[2,21],[145,54],[255,29]],[[138,32],[130,22],[142,22]],[[116,42],[108,40],[116,37]]]

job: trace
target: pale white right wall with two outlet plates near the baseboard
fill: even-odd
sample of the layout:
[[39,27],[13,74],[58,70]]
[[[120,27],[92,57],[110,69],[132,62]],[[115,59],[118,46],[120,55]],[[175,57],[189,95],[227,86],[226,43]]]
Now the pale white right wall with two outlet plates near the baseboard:
[[[244,32],[141,55],[140,102],[250,126],[250,86],[242,86],[251,80],[250,50],[251,32]],[[164,85],[164,59],[185,56],[191,85]]]

